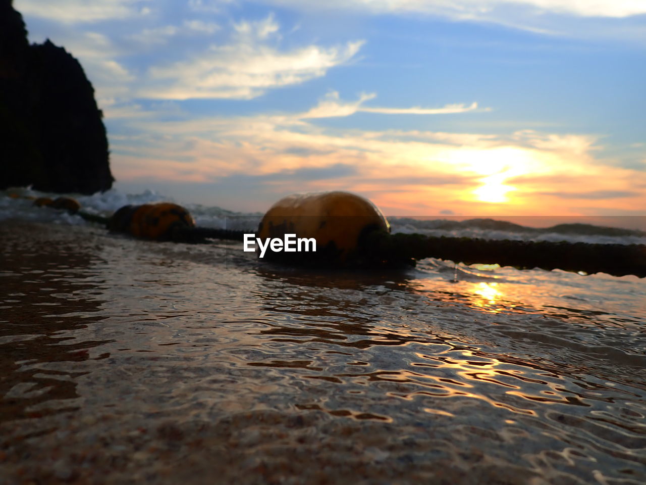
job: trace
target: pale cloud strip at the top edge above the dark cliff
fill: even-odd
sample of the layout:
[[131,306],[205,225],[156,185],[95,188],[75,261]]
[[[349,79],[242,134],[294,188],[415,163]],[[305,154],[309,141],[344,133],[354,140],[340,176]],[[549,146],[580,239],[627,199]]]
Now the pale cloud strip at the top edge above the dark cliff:
[[141,0],[17,0],[16,10],[23,15],[60,23],[90,23],[145,14]]

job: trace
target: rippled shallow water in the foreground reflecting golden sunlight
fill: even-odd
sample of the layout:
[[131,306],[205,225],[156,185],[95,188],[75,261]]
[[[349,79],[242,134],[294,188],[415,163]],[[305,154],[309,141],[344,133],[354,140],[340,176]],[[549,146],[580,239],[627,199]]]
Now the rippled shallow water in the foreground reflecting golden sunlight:
[[0,237],[0,483],[646,481],[645,280]]

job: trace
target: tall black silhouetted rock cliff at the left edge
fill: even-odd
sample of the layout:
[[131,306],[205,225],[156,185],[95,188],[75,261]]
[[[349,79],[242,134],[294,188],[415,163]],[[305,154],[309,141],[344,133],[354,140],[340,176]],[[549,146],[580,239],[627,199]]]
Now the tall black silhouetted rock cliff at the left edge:
[[29,45],[12,0],[0,0],[0,188],[112,187],[102,116],[79,62],[49,40]]

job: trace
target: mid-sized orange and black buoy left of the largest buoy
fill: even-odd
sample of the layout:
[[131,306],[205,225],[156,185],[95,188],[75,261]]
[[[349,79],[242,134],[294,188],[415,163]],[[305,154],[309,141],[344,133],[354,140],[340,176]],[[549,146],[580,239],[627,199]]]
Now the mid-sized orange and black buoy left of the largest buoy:
[[156,241],[171,239],[172,232],[178,228],[193,227],[195,221],[189,211],[170,202],[123,206],[108,222],[111,231],[128,232],[136,237]]

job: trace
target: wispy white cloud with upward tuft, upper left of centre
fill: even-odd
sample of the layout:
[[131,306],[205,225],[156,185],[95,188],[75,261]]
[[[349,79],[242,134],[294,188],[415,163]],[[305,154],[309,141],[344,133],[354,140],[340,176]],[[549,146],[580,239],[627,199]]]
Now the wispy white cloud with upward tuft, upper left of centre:
[[283,51],[270,43],[278,37],[272,16],[234,25],[230,43],[213,44],[187,61],[149,69],[138,92],[143,98],[251,99],[267,89],[296,85],[324,76],[328,69],[353,58],[363,41],[336,47],[308,45]]

